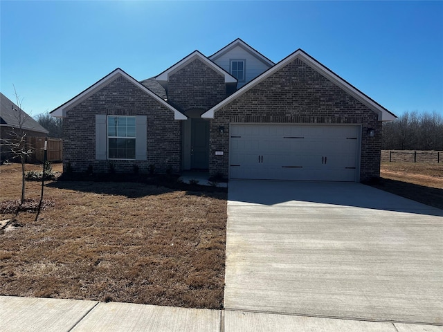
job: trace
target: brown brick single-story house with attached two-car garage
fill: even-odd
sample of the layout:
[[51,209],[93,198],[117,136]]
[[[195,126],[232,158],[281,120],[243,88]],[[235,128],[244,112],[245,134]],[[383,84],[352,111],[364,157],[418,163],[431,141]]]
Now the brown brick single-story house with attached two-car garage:
[[51,112],[73,172],[368,181],[396,116],[298,49],[278,63],[236,39],[138,81],[120,68]]

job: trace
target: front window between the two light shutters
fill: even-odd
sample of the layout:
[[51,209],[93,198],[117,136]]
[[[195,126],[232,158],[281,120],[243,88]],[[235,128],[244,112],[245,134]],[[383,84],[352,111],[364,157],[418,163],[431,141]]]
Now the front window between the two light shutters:
[[135,116],[108,116],[108,158],[136,158]]

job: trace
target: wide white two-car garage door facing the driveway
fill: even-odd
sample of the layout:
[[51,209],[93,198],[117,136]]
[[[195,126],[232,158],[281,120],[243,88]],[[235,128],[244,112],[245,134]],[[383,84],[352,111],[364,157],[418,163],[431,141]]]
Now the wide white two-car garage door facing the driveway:
[[360,127],[231,124],[230,178],[358,181]]

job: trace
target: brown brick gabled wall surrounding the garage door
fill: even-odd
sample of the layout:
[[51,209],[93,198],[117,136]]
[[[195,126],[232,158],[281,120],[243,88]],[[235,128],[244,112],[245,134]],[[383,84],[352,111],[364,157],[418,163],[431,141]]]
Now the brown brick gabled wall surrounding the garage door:
[[[361,124],[360,181],[379,176],[381,122],[377,113],[300,59],[215,112],[210,123],[211,174],[228,176],[229,124],[235,122]],[[222,135],[219,126],[225,128]],[[375,130],[374,137],[368,137],[368,128]],[[215,151],[224,151],[224,156],[215,156]]]

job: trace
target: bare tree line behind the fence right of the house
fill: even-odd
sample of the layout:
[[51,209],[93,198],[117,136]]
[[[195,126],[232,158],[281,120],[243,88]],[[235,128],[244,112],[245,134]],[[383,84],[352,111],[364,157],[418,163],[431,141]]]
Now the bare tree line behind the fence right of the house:
[[395,121],[383,122],[383,150],[443,150],[443,116],[433,111],[406,111]]

